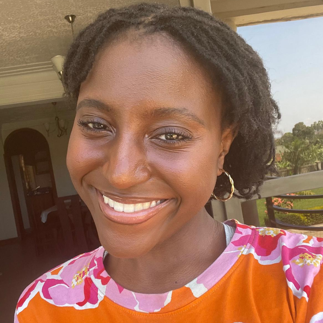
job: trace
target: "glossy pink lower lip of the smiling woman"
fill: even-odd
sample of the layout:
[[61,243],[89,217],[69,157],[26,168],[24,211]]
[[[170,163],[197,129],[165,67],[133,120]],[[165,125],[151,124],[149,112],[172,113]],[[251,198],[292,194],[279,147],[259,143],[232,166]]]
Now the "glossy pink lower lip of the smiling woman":
[[118,212],[113,207],[110,207],[109,204],[104,203],[104,199],[102,194],[97,191],[99,197],[99,206],[102,213],[107,217],[109,220],[119,223],[119,224],[140,224],[143,222],[148,221],[154,215],[158,214],[161,209],[166,207],[172,199],[168,199],[165,202],[158,204],[154,207],[150,207],[146,210],[136,211],[132,213],[126,212]]

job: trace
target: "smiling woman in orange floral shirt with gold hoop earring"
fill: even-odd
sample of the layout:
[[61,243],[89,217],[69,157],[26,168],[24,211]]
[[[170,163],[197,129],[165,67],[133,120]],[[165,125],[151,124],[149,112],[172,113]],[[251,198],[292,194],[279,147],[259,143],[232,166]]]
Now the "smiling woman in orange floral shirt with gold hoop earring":
[[194,8],[110,9],[73,42],[64,86],[68,169],[102,247],[28,286],[16,322],[323,322],[322,239],[204,208],[274,170],[279,109],[240,36]]

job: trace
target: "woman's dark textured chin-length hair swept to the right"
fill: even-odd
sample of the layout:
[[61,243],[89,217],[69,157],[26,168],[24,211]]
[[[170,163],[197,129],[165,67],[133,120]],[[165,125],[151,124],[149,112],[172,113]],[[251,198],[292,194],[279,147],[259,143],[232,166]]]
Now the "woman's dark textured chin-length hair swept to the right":
[[[128,30],[164,32],[196,57],[226,99],[223,120],[238,133],[225,156],[224,169],[234,179],[234,196],[250,199],[268,173],[275,172],[274,129],[280,119],[261,58],[245,40],[214,16],[192,7],[141,3],[109,9],[83,29],[64,63],[66,96],[77,99],[80,85],[99,49]],[[231,191],[227,177],[218,177],[214,194]]]

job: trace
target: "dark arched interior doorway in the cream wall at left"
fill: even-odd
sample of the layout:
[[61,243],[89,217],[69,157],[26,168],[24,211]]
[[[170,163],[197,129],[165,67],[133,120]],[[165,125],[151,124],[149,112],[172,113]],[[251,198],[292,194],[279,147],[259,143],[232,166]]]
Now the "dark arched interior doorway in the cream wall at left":
[[57,198],[46,138],[37,130],[13,131],[5,140],[5,167],[19,239],[36,233],[43,210]]

